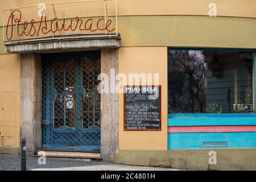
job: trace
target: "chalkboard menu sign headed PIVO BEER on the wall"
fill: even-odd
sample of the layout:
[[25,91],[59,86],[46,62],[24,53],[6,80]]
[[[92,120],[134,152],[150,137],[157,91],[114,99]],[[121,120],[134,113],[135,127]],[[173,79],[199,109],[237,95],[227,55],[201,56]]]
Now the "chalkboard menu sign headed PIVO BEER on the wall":
[[124,89],[124,130],[161,131],[161,86]]

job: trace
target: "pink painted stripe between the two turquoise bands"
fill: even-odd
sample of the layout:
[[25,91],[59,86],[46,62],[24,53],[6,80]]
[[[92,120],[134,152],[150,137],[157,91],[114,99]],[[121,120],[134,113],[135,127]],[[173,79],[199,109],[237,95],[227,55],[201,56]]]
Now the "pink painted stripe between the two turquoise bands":
[[169,126],[168,133],[256,132],[256,126]]

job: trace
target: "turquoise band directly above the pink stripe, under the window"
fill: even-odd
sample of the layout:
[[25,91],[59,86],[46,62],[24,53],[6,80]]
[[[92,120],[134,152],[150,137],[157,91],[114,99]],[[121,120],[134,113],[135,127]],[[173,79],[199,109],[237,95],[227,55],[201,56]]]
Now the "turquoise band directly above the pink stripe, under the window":
[[256,117],[236,117],[236,118],[168,118],[168,126],[245,126],[256,125]]

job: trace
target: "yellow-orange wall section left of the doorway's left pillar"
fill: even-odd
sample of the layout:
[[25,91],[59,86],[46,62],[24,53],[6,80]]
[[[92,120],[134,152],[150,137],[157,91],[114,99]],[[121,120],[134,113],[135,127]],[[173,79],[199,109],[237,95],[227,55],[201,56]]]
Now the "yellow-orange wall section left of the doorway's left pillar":
[[8,147],[10,152],[18,148],[19,130],[20,56],[0,55],[0,149]]

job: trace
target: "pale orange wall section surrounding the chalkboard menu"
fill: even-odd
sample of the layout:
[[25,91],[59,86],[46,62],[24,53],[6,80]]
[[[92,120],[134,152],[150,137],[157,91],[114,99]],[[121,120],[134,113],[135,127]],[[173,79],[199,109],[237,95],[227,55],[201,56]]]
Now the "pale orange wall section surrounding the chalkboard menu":
[[123,94],[119,94],[119,149],[167,150],[167,48],[120,48],[118,61],[119,73],[127,77],[129,73],[159,73],[159,85],[162,85],[162,131],[123,131]]

